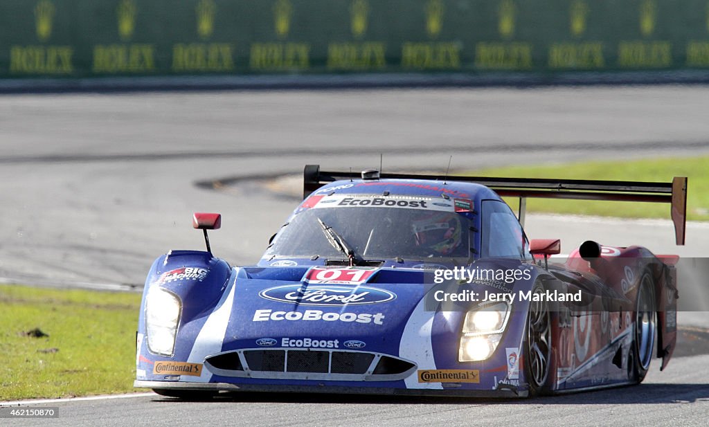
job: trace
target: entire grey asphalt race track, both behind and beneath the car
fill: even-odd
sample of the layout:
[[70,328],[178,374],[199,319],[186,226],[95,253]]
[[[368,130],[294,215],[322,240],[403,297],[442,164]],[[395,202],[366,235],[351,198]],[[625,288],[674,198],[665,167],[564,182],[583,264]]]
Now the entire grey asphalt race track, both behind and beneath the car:
[[[449,156],[453,170],[691,156],[709,153],[708,112],[706,86],[2,96],[0,277],[140,286],[159,254],[202,247],[194,211],[223,214],[211,234],[218,256],[252,263],[294,206],[242,180],[222,191],[196,183],[299,173],[306,163],[359,170],[379,166],[380,153],[384,169],[428,171],[444,171]],[[688,230],[677,248],[668,221],[527,219],[530,237],[562,237],[564,251],[596,239],[706,254],[709,227]],[[683,313],[679,324],[709,320]],[[61,403],[60,419],[8,425],[705,426],[708,361],[690,353],[665,372],[656,363],[640,387],[514,402],[147,396]]]

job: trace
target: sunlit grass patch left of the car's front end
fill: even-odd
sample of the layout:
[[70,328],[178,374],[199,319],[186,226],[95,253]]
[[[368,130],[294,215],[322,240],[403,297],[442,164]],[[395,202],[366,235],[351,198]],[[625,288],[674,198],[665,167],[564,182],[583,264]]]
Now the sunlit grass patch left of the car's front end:
[[139,309],[139,294],[0,285],[0,401],[133,392]]

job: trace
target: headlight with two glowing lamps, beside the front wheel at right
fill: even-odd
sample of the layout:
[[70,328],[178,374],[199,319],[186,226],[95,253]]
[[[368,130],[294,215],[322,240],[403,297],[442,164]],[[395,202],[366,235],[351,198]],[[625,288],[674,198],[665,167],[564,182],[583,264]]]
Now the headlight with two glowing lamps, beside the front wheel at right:
[[506,302],[498,302],[467,312],[463,321],[463,336],[460,338],[458,360],[460,362],[486,360],[495,353],[509,316],[510,306]]

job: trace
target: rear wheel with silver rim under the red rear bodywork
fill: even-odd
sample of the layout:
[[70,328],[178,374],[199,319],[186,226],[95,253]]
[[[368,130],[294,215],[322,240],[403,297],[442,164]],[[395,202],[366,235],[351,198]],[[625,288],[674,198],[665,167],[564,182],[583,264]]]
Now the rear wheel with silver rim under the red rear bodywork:
[[638,384],[644,380],[652,361],[655,343],[655,297],[654,283],[649,273],[644,273],[637,288],[635,300],[635,323],[632,326],[633,340],[628,370],[630,379]]

